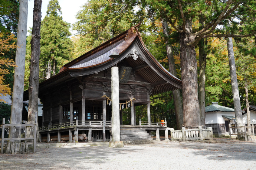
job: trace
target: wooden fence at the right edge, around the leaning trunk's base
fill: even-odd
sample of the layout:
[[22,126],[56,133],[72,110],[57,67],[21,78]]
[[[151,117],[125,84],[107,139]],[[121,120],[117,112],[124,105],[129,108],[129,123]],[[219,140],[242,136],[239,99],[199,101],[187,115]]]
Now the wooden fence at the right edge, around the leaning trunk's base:
[[[234,130],[233,129],[236,129],[236,132],[237,131],[237,128],[243,128],[242,130],[242,133],[231,133],[233,132]],[[253,135],[253,141],[255,141],[255,134],[254,134],[254,125],[252,123],[252,126],[245,126],[245,124],[243,124],[243,126],[231,126],[229,124],[229,138],[231,140],[231,135],[243,135],[244,137],[244,140],[245,141],[250,141],[250,135]]]

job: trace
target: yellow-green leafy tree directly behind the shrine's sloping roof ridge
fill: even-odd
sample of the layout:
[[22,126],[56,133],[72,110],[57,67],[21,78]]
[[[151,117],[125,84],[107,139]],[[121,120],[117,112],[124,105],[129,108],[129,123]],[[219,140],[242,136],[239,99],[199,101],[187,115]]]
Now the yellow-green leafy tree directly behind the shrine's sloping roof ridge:
[[124,17],[112,16],[107,3],[107,0],[89,0],[76,14],[77,21],[73,24],[73,30],[78,34],[75,38],[76,57],[133,26],[132,12],[125,13]]

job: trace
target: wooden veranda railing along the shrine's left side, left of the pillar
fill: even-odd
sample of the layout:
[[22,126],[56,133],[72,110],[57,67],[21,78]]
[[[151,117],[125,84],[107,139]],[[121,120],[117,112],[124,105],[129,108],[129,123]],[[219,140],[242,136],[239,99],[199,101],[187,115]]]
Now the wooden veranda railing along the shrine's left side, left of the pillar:
[[[75,127],[82,127],[82,126],[103,126],[103,121],[82,121],[82,120],[76,120],[73,122],[66,122],[66,123],[59,123],[56,125],[48,125],[48,126],[42,126],[39,127],[40,131],[46,131],[46,130],[55,130],[55,129],[62,129],[62,128],[75,128]],[[106,126],[111,127],[111,121],[106,121]]]

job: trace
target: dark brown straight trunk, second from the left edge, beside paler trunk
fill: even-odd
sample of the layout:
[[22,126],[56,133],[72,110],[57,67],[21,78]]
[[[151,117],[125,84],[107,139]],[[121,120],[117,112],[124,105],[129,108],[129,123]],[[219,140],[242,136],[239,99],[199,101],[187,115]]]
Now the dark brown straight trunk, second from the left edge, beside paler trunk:
[[[38,84],[39,84],[39,58],[40,58],[40,28],[42,17],[42,0],[35,0],[33,10],[33,29],[31,39],[31,59],[29,76],[29,109],[27,120],[35,122],[35,116],[38,116]],[[38,120],[38,119],[37,119]],[[36,122],[37,123],[37,122]],[[38,123],[37,123],[37,133]],[[39,139],[37,138],[37,142]]]

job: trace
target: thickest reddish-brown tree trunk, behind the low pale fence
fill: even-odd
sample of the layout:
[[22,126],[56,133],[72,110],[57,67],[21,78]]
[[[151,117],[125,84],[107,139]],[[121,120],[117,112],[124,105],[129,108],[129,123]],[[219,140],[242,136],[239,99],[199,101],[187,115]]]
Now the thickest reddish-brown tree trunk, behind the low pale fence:
[[194,42],[192,34],[191,18],[186,19],[186,32],[180,34],[180,62],[183,96],[183,126],[186,128],[198,127],[201,125],[198,82],[197,82],[197,60],[195,46],[188,45]]

